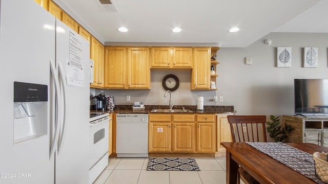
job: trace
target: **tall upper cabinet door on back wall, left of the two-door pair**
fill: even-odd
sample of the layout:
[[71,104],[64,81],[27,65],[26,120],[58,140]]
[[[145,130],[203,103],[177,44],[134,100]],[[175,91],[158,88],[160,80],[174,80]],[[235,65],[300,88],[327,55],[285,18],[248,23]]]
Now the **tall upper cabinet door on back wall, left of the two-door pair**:
[[105,47],[105,85],[107,88],[125,88],[126,48]]

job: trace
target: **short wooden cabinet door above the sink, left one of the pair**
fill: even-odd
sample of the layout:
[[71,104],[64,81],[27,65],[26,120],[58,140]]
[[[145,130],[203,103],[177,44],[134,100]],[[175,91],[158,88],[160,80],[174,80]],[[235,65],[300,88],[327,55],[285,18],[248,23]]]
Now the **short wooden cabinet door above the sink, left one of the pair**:
[[172,48],[170,47],[152,47],[151,48],[151,67],[169,68],[172,65]]

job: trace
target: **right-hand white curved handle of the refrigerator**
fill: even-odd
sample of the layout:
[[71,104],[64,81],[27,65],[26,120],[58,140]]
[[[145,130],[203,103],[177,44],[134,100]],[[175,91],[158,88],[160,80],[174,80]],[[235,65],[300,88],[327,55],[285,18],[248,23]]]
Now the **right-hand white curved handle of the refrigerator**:
[[61,88],[63,89],[63,99],[64,99],[64,106],[62,106],[64,108],[64,114],[63,114],[63,123],[61,124],[61,131],[60,131],[60,135],[58,138],[58,155],[60,153],[60,149],[63,147],[63,142],[64,142],[64,138],[65,138],[65,127],[66,127],[66,92],[65,92],[65,76],[63,74],[63,66],[61,65],[61,63],[58,63],[58,70],[59,70],[59,76],[60,76],[60,81],[61,81]]

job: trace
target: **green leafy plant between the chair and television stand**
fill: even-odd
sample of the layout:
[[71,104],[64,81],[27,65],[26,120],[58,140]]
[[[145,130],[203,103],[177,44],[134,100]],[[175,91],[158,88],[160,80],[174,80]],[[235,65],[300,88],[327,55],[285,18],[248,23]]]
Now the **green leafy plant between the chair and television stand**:
[[288,137],[287,132],[292,130],[292,126],[285,124],[285,127],[282,127],[279,121],[280,117],[270,116],[271,122],[267,122],[267,132],[270,133],[270,137],[275,142],[282,142],[282,140]]

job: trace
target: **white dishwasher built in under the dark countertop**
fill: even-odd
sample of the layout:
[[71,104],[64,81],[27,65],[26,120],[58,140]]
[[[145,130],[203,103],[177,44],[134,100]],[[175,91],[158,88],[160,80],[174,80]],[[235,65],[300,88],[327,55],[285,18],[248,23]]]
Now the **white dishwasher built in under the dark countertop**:
[[117,157],[148,157],[148,114],[116,114]]

